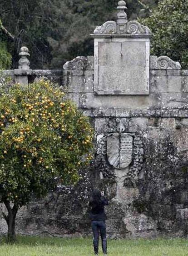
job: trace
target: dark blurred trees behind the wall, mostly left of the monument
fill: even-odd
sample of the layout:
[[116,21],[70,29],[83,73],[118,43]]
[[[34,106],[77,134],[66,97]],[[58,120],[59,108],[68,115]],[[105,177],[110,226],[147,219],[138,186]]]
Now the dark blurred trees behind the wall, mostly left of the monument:
[[[129,19],[154,1],[126,0]],[[31,68],[37,69],[62,68],[77,55],[93,55],[89,34],[105,21],[116,20],[117,5],[118,0],[1,0],[0,18],[15,37],[8,44],[13,68],[22,45],[29,47]]]

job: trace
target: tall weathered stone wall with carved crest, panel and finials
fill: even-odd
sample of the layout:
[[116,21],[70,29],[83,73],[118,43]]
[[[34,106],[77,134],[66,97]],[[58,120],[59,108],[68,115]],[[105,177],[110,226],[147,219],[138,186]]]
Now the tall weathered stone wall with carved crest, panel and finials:
[[[117,42],[113,52],[122,48],[117,50],[120,68],[112,69],[110,74],[104,72],[106,62],[102,65],[96,61],[98,44],[95,56],[76,57],[62,70],[30,70],[28,62],[20,61],[20,70],[4,71],[24,84],[40,76],[56,80],[79,109],[91,117],[96,133],[95,160],[88,170],[81,171],[77,186],[61,186],[45,200],[23,207],[17,217],[20,234],[89,235],[89,193],[99,187],[109,198],[109,237],[188,236],[188,70],[181,70],[178,62],[166,56],[150,56],[148,60],[150,31],[136,21],[127,21],[124,1],[118,8],[121,13],[117,23],[109,21],[93,35],[95,43],[103,38],[107,48],[110,42]],[[140,40],[142,37],[144,40]],[[122,56],[125,45],[133,45],[136,38],[146,42],[146,48],[141,47],[146,53],[139,57],[140,61],[146,58],[146,62],[140,62],[139,67],[148,73],[146,80],[142,77],[140,87],[135,83],[130,87],[125,74],[121,75],[127,63]],[[138,51],[130,49],[131,58],[136,58]],[[28,50],[22,49],[21,56],[23,52]],[[129,68],[126,66],[128,78],[134,75],[129,73],[131,61]],[[103,80],[96,80],[96,74],[100,76],[96,68],[102,70],[108,90],[100,91]],[[140,70],[135,70],[138,75]],[[114,89],[111,77],[113,81],[117,78],[117,88],[120,84],[122,90]],[[139,77],[135,81],[139,85]],[[0,215],[0,232],[5,231]]]

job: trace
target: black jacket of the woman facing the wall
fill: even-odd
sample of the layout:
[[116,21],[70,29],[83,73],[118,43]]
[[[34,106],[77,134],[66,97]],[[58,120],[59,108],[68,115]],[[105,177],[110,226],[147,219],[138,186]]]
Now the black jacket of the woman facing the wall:
[[101,203],[95,204],[93,202],[89,202],[90,206],[90,212],[89,216],[92,221],[104,221],[107,219],[107,216],[104,212],[104,206],[108,206],[109,202],[106,198],[102,197],[101,198]]

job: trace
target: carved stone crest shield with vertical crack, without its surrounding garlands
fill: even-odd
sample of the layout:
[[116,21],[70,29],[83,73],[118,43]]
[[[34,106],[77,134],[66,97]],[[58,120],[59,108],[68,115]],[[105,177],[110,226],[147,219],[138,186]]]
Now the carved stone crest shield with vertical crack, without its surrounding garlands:
[[133,137],[127,133],[114,133],[107,137],[107,156],[110,165],[123,169],[133,158]]

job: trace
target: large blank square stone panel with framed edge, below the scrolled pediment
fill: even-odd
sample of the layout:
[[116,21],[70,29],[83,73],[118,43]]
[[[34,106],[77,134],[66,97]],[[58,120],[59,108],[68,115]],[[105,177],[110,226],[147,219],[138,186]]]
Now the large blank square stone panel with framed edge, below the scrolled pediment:
[[94,91],[149,94],[149,39],[95,39]]

